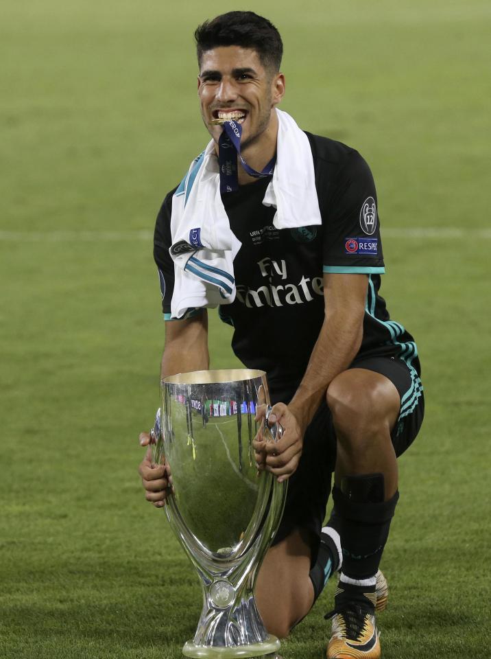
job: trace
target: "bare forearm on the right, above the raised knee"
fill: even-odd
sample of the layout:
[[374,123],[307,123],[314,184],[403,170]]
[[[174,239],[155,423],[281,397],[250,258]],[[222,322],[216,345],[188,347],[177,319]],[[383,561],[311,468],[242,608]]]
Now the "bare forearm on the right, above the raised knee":
[[363,337],[363,314],[337,312],[326,316],[302,382],[289,403],[300,426],[307,428],[332,380],[355,358]]

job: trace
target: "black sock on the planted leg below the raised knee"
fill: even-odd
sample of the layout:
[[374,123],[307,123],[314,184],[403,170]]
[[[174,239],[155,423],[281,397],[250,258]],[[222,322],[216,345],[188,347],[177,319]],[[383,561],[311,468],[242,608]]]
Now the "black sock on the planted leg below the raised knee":
[[356,501],[333,487],[333,516],[329,522],[341,536],[343,574],[368,579],[379,569],[399,493],[388,501]]

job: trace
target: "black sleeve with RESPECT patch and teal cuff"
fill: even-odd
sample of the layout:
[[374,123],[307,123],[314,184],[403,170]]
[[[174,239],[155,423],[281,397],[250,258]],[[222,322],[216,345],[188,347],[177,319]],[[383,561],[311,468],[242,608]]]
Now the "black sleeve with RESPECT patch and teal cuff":
[[375,184],[357,151],[348,154],[327,201],[324,273],[384,273]]

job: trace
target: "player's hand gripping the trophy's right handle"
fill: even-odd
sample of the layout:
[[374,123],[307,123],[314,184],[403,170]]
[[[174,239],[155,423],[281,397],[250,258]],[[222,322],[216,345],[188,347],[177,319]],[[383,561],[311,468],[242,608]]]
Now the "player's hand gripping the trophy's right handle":
[[256,411],[256,421],[263,421],[252,446],[258,470],[267,470],[278,478],[278,483],[286,481],[298,467],[302,455],[304,430],[300,428],[296,416],[284,403],[272,407],[269,426],[276,422],[283,428],[283,437],[278,441],[267,441],[267,433],[263,432],[266,406],[259,405]]

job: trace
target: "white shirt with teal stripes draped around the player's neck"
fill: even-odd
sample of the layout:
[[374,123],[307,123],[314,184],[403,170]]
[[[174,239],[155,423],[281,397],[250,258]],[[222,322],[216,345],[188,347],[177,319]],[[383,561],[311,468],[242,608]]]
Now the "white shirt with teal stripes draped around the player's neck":
[[[263,204],[276,207],[277,229],[321,224],[312,152],[307,135],[287,113],[276,110],[276,166]],[[211,140],[172,198],[174,290],[171,318],[189,309],[235,300],[233,261],[241,248],[221,201],[218,160]]]

